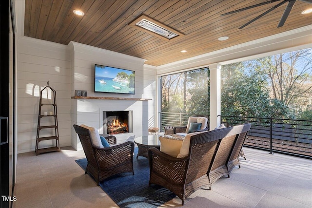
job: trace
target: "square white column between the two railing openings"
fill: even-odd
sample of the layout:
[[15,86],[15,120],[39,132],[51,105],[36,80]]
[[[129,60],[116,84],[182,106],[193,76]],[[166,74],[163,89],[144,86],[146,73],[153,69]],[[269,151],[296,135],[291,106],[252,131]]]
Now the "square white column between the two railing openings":
[[210,64],[210,130],[220,125],[221,115],[221,65]]

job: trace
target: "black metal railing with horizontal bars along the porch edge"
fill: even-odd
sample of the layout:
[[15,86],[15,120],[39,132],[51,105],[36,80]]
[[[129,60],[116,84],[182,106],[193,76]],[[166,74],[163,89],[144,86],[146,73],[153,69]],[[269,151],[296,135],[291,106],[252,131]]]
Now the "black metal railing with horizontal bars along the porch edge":
[[[189,113],[160,112],[160,130],[186,126]],[[198,114],[197,114],[198,115]],[[205,114],[207,116],[207,114]],[[312,159],[312,121],[219,115],[221,123],[234,126],[252,123],[244,146]]]

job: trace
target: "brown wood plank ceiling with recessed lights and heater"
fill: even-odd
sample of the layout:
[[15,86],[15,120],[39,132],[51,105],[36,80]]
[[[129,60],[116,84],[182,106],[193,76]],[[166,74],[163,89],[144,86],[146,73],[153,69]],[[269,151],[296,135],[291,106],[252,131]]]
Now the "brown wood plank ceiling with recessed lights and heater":
[[[301,14],[312,4],[301,0],[295,2],[285,25],[280,28],[277,25],[287,3],[238,29],[280,1],[220,16],[265,1],[26,0],[24,36],[66,45],[75,41],[144,58],[146,64],[159,66],[312,24],[312,14]],[[76,16],[74,9],[82,10],[85,15]],[[184,36],[164,40],[129,25],[142,14]],[[229,39],[219,41],[221,36]]]

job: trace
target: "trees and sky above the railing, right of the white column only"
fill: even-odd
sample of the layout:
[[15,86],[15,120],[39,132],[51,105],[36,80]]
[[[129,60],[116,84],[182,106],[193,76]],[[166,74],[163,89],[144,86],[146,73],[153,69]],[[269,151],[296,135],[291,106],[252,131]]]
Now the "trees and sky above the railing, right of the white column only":
[[[301,50],[222,66],[222,114],[300,117],[300,109],[312,102],[311,52]],[[312,120],[312,116],[306,119]]]

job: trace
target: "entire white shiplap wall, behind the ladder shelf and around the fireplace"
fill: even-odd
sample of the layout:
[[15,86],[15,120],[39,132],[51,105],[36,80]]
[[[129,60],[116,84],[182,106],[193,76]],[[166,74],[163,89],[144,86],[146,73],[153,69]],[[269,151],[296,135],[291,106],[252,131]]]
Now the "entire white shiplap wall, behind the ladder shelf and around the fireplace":
[[[156,126],[156,67],[144,59],[71,42],[61,45],[21,37],[18,42],[18,153],[35,150],[39,92],[49,80],[57,91],[60,146],[81,149],[73,124],[86,124],[102,132],[102,111],[133,111],[133,132],[117,135],[117,143],[147,135]],[[136,94],[94,93],[94,64],[136,71]],[[88,96],[151,98],[149,101],[71,99],[75,90]],[[42,141],[40,148],[52,141]]]

